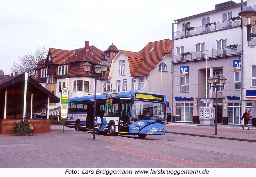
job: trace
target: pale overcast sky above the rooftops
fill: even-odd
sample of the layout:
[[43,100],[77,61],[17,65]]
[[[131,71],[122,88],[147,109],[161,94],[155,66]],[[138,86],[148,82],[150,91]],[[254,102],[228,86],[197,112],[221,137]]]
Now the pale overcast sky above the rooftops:
[[148,42],[171,39],[173,20],[226,1],[0,0],[0,70],[10,74],[13,62],[37,46],[73,50],[87,40],[102,51],[114,43],[138,52]]

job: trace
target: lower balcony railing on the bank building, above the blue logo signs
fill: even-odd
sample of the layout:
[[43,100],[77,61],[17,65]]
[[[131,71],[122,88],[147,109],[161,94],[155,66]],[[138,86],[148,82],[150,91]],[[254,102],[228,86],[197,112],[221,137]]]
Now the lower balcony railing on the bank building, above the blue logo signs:
[[172,63],[204,60],[206,59],[206,57],[207,59],[210,59],[210,58],[216,59],[220,57],[234,56],[234,55],[240,55],[240,54],[241,54],[241,45],[237,46],[234,49],[229,49],[229,47],[222,47],[222,48],[215,48],[207,51],[191,52],[186,56],[173,55]]

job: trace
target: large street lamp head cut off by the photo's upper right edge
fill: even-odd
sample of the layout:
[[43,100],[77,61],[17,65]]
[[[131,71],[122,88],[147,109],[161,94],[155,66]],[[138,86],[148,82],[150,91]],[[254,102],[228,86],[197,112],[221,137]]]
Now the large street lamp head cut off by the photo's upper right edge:
[[256,37],[256,34],[251,33],[252,26],[256,33],[256,10],[249,6],[239,12],[238,15],[241,16],[243,25],[246,26],[247,41],[251,41],[251,37]]

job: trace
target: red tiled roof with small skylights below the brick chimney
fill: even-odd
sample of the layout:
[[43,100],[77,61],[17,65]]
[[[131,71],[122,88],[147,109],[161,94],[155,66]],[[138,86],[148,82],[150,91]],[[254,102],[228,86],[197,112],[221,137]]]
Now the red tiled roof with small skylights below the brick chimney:
[[98,48],[91,45],[89,50],[84,48],[79,48],[73,50],[73,54],[70,57],[67,57],[66,60],[60,64],[67,64],[76,61],[86,61],[86,62],[101,62],[105,61],[105,54]]

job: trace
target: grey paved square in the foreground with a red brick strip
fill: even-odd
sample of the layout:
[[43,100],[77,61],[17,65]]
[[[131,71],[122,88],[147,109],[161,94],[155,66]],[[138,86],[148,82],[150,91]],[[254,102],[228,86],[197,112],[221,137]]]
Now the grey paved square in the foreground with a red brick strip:
[[254,142],[169,133],[92,140],[91,132],[54,125],[51,133],[1,135],[0,168],[256,168],[255,151]]

